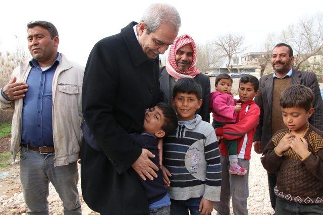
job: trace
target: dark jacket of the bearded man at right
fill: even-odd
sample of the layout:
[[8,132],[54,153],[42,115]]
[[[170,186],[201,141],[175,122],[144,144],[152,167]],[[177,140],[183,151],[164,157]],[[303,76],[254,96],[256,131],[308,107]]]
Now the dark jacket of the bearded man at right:
[[[309,123],[319,130],[323,130],[323,106],[315,73],[310,71],[298,71],[293,68],[291,85],[304,85],[310,88],[314,94],[314,113],[309,118]],[[254,135],[255,140],[261,140],[260,148],[263,150],[272,138],[272,106],[273,106],[273,74],[260,78],[259,94],[255,102],[260,108],[259,125]]]

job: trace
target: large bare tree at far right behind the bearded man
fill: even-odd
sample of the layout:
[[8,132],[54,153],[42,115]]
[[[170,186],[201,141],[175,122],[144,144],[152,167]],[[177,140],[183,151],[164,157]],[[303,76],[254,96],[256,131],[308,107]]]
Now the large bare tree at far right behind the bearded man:
[[309,57],[323,49],[323,13],[289,25],[282,31],[281,39],[294,49],[294,68],[299,69]]

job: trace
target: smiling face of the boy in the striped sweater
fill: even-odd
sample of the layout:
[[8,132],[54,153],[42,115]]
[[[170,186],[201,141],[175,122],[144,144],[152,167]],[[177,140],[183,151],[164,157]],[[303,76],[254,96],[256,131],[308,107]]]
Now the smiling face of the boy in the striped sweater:
[[195,111],[202,105],[202,99],[198,99],[195,94],[188,93],[177,93],[175,98],[172,98],[172,102],[179,121],[194,119]]

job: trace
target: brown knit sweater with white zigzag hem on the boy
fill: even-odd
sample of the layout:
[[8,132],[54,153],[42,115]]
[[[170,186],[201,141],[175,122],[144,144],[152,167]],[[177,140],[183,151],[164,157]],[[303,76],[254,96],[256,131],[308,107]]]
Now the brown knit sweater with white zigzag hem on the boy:
[[311,155],[304,161],[292,149],[276,155],[274,148],[287,133],[288,129],[278,131],[261,158],[268,172],[278,173],[276,195],[299,204],[323,203],[323,132],[309,125],[304,138]]

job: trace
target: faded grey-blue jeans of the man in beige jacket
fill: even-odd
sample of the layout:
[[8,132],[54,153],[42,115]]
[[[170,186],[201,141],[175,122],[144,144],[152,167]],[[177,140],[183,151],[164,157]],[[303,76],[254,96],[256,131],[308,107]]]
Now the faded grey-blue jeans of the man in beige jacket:
[[20,180],[27,214],[48,214],[48,184],[55,187],[63,201],[64,214],[82,214],[77,189],[77,162],[54,167],[54,153],[39,152],[21,147]]

